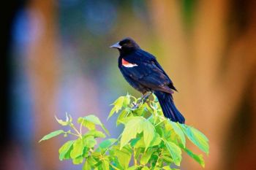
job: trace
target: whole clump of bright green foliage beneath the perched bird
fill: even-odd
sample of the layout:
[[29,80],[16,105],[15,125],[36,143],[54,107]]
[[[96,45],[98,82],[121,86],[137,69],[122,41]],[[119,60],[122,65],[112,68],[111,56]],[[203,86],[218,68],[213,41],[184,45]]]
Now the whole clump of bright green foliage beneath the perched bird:
[[[83,163],[83,170],[88,169],[173,169],[181,164],[181,151],[205,166],[203,155],[196,155],[186,147],[186,137],[200,150],[208,154],[208,139],[197,129],[180,123],[174,123],[163,117],[157,98],[147,100],[137,109],[132,107],[138,98],[119,97],[112,105],[109,117],[118,114],[116,124],[123,124],[124,131],[117,139],[105,139],[97,144],[97,138],[105,138],[108,130],[98,117],[87,115],[79,117],[80,129],[75,128],[72,117],[66,114],[66,120],[56,120],[69,126],[69,131],[53,131],[41,140],[47,140],[60,134],[73,135],[59,149],[59,159],[71,159],[74,164]],[[108,117],[108,118],[109,118]],[[97,130],[100,126],[103,131]],[[86,133],[82,128],[86,128]]]

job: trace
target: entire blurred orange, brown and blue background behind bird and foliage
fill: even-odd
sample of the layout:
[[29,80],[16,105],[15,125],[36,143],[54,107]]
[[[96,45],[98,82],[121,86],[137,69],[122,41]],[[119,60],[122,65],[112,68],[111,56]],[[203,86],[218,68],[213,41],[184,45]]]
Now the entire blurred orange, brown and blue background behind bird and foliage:
[[[2,4],[1,169],[81,169],[59,161],[54,115],[96,114],[127,92],[109,46],[130,36],[157,56],[187,124],[210,141],[207,170],[255,169],[256,1],[44,0]],[[192,144],[190,148],[197,153]],[[184,154],[181,169],[202,169]]]

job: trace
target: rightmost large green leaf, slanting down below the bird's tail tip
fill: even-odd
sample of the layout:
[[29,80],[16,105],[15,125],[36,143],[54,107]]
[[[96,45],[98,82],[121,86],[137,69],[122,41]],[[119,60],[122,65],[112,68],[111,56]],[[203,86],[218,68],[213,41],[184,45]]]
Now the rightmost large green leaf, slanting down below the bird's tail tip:
[[208,139],[202,132],[188,125],[183,125],[181,127],[183,127],[185,134],[193,144],[199,147],[203,152],[206,152],[207,154],[209,153]]

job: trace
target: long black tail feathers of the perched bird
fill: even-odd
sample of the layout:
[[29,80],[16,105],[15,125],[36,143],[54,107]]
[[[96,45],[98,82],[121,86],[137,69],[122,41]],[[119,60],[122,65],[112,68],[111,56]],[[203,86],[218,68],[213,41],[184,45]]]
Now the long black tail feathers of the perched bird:
[[154,91],[154,94],[158,98],[159,104],[162,107],[162,112],[164,113],[165,117],[170,118],[170,120],[173,122],[185,123],[185,118],[176,108],[171,94],[162,91]]

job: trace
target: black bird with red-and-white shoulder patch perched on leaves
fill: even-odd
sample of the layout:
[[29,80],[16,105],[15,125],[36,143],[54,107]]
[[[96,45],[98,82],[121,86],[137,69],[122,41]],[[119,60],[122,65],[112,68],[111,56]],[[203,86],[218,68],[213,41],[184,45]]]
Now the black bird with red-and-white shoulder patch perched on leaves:
[[154,55],[142,50],[131,38],[122,39],[110,47],[118,49],[118,67],[129,85],[143,93],[143,99],[153,92],[165,117],[185,123],[185,118],[173,103],[172,93],[176,88]]

